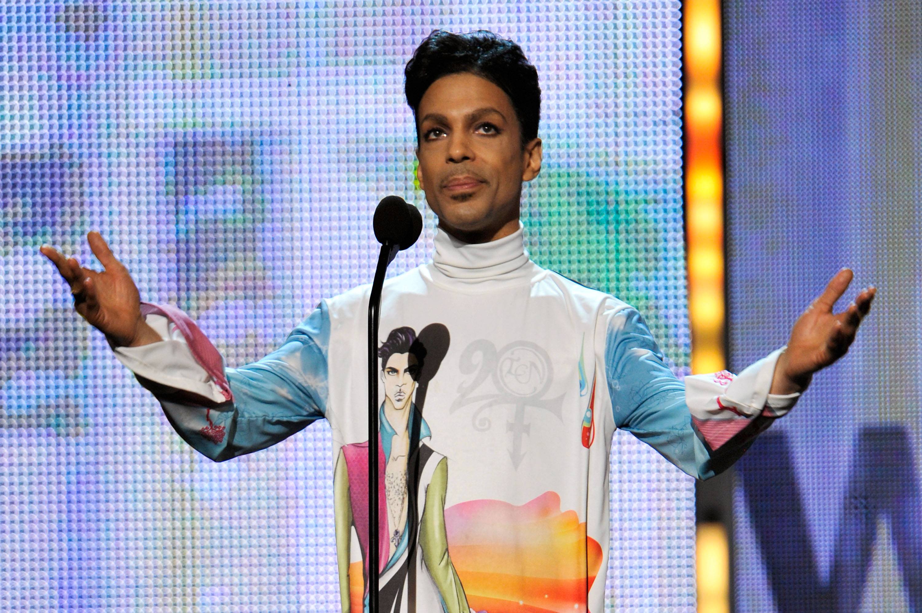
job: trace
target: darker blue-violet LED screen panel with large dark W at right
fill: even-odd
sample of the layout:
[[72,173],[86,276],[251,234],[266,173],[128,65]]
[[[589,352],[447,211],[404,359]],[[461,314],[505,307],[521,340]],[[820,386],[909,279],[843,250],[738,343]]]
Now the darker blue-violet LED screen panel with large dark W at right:
[[922,610],[922,12],[725,3],[730,364],[843,266],[857,341],[738,464],[739,613]]

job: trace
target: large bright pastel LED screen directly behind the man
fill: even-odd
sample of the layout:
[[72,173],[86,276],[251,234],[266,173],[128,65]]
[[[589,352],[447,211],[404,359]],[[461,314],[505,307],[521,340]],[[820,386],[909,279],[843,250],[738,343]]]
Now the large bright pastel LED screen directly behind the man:
[[[338,610],[329,428],[213,463],[73,309],[42,243],[195,319],[229,366],[368,283],[372,212],[414,186],[403,69],[432,29],[519,42],[543,91],[539,263],[638,307],[687,372],[680,3],[0,6],[0,607]],[[612,452],[609,607],[691,611],[690,478]]]

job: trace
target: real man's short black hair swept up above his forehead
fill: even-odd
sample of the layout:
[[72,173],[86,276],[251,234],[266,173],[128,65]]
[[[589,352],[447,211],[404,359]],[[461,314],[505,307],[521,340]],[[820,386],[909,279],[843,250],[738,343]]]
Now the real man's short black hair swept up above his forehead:
[[541,118],[541,88],[538,70],[514,41],[503,39],[489,29],[455,34],[433,29],[413,52],[404,69],[404,93],[417,121],[417,110],[429,86],[445,75],[472,73],[491,81],[512,100],[519,121],[522,148],[538,136]]

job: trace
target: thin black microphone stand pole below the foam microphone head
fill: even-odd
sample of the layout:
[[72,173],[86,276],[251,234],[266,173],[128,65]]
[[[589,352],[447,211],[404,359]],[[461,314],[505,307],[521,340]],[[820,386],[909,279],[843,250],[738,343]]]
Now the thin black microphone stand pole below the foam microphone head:
[[368,301],[368,610],[378,613],[378,319],[381,310],[381,288],[387,265],[396,257],[399,245],[385,242],[378,254],[378,266],[374,270],[372,295]]

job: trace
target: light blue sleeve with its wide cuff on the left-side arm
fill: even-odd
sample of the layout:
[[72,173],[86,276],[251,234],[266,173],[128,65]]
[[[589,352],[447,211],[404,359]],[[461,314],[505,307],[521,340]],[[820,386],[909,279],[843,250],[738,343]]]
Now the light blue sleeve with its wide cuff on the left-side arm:
[[277,350],[239,368],[227,367],[223,356],[179,309],[149,303],[146,308],[178,322],[175,329],[183,330],[187,342],[163,342],[178,343],[178,351],[185,352],[183,359],[201,365],[200,372],[213,390],[210,397],[200,381],[187,377],[189,383],[183,385],[175,376],[176,369],[171,373],[168,364],[137,360],[129,364],[119,359],[160,401],[183,440],[205,456],[220,462],[249,454],[325,416],[330,322],[324,301],[290,331]]

